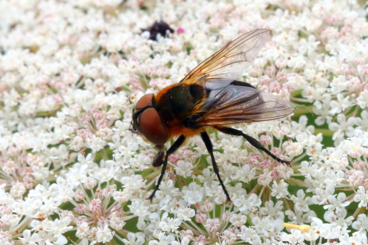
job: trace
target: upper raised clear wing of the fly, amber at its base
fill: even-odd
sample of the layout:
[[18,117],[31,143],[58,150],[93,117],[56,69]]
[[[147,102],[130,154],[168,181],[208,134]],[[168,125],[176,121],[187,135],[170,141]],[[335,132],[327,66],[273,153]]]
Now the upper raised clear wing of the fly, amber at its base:
[[240,77],[251,65],[268,37],[269,31],[266,29],[257,29],[241,35],[195,67],[181,82],[205,78],[206,82],[209,82],[215,78]]

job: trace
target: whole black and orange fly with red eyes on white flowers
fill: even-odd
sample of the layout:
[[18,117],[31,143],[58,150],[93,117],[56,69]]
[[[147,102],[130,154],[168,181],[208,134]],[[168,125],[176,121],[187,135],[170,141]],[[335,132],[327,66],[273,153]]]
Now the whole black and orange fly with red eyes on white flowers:
[[[256,139],[231,124],[267,121],[282,118],[295,109],[289,101],[256,89],[254,86],[235,80],[243,74],[267,41],[269,31],[257,29],[241,35],[231,43],[194,68],[177,84],[167,86],[157,94],[146,94],[139,99],[133,110],[133,130],[159,149],[153,159],[153,166],[162,166],[152,201],[164,176],[167,158],[175,152],[185,139],[201,135],[211,156],[213,170],[226,195],[230,195],[221,180],[212,142],[206,132],[214,128],[224,134],[243,136],[255,148],[263,150],[280,163],[289,164],[273,155]],[[166,151],[163,145],[171,137],[178,136]]]

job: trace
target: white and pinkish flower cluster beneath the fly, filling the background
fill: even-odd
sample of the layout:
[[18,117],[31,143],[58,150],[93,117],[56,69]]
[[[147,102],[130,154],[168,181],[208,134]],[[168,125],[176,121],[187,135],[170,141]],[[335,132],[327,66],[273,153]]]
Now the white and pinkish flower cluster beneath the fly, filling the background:
[[[367,244],[362,4],[0,1],[0,244]],[[142,29],[160,20],[175,32],[149,39]],[[146,200],[161,168],[130,131],[134,105],[258,28],[271,38],[239,79],[297,109],[234,127],[291,167],[209,131],[233,202],[199,136],[169,156]]]

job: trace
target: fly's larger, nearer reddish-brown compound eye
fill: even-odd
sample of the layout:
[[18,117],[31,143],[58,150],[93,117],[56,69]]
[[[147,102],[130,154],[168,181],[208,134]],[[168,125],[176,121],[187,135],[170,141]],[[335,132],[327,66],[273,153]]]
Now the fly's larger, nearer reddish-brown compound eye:
[[163,145],[169,138],[155,108],[150,107],[142,112],[139,118],[139,126],[145,138],[155,145]]

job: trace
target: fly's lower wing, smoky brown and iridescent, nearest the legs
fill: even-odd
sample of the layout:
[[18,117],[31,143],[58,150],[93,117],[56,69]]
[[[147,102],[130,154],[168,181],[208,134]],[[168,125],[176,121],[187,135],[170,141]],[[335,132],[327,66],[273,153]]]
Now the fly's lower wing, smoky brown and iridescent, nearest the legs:
[[282,118],[295,109],[294,104],[245,82],[213,79],[205,84],[210,90],[198,126],[268,121]]

